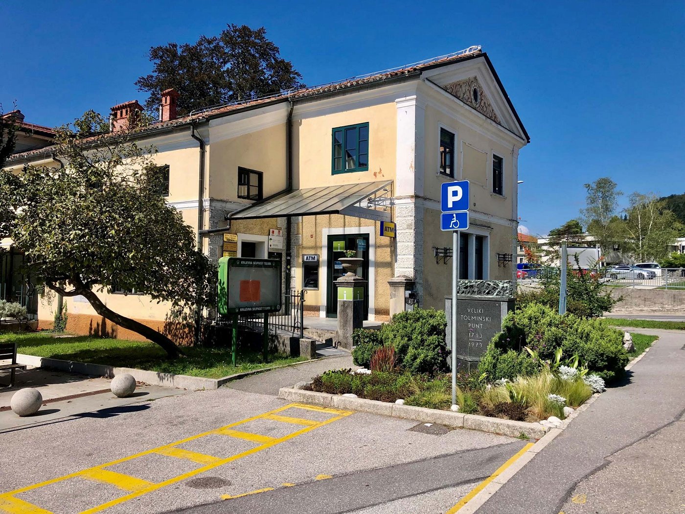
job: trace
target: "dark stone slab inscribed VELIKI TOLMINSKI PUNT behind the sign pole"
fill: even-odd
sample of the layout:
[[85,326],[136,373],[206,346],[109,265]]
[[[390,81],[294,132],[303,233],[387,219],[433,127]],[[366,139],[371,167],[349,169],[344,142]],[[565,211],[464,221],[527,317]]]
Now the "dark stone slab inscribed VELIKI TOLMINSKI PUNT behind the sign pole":
[[[502,320],[514,309],[514,299],[459,295],[457,297],[457,369],[471,369],[488,348],[493,336],[502,330]],[[452,297],[445,297],[447,330],[445,341],[451,346]]]

